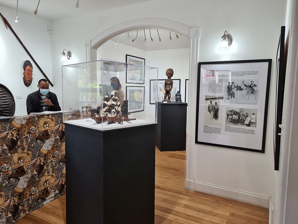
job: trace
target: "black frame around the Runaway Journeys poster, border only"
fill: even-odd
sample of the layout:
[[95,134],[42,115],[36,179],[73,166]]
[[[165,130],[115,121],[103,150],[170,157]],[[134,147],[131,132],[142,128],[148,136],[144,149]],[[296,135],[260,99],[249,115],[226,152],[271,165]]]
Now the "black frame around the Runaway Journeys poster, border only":
[[[212,64],[235,64],[235,63],[256,63],[256,62],[268,62],[268,73],[267,73],[267,83],[266,83],[266,96],[265,96],[265,108],[264,108],[264,124],[263,124],[263,136],[262,136],[262,150],[237,147],[231,145],[222,145],[214,144],[210,142],[200,142],[198,141],[198,119],[199,119],[199,100],[200,100],[200,74],[201,74],[201,65],[212,65]],[[223,148],[238,149],[243,151],[251,151],[258,153],[265,153],[265,144],[266,144],[266,127],[267,127],[267,115],[268,115],[268,101],[269,101],[269,87],[270,87],[270,78],[271,78],[271,64],[272,59],[256,59],[256,60],[238,60],[238,61],[218,61],[218,62],[199,62],[198,63],[198,80],[197,80],[197,102],[196,102],[196,118],[195,118],[195,143],[202,145],[211,145]]]

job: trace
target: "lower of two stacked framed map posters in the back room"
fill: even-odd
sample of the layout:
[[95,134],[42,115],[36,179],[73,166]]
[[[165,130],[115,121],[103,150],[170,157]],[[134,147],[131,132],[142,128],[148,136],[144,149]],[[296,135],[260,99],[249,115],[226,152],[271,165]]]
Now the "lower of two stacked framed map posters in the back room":
[[128,113],[144,111],[145,86],[126,86]]

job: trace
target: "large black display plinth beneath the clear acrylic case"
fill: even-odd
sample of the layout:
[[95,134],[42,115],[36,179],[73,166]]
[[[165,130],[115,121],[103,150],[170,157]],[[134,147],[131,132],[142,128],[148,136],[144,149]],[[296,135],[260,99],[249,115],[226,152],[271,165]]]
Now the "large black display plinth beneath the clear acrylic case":
[[155,126],[65,123],[66,223],[154,223]]

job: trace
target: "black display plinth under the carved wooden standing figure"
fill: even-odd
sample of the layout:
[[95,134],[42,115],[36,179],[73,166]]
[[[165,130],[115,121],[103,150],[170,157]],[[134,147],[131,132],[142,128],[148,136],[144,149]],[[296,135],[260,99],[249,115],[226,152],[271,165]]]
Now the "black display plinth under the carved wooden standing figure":
[[186,150],[187,103],[157,105],[155,144],[159,151]]

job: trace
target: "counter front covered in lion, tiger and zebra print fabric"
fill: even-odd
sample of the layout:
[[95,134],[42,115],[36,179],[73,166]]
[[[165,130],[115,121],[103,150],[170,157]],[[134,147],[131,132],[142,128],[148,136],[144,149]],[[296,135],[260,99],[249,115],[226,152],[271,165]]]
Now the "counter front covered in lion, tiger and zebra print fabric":
[[66,193],[62,113],[0,119],[0,224]]

